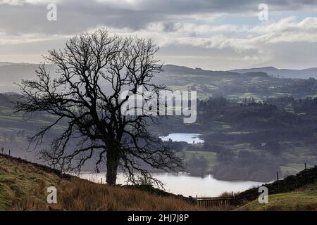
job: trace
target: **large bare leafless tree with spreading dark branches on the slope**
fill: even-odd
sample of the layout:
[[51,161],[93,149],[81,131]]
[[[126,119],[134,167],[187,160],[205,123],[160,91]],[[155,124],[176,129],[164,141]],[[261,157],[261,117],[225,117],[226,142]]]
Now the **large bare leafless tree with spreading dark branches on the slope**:
[[[30,138],[35,146],[42,144],[44,135],[56,125],[67,122],[51,148],[40,151],[42,157],[54,167],[77,172],[90,159],[95,160],[97,172],[106,163],[106,181],[111,185],[116,184],[118,167],[132,182],[137,181],[136,174],[159,182],[142,164],[166,171],[182,167],[173,150],[149,133],[156,117],[122,112],[123,104],[138,94],[140,86],[156,93],[165,88],[151,82],[162,71],[154,58],[157,51],[151,39],[119,37],[104,29],[77,35],[63,50],[49,51],[44,58],[56,65],[58,77],[53,78],[45,65],[40,65],[36,80],[19,84],[24,98],[15,103],[17,111],[56,117]],[[129,94],[121,99],[124,90]],[[79,140],[76,148],[69,149],[75,140]]]

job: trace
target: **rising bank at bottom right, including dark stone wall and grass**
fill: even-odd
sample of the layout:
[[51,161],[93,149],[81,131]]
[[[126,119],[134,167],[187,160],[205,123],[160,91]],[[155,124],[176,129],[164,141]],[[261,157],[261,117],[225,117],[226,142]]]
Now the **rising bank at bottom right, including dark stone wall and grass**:
[[263,186],[268,188],[268,203],[260,204],[259,188],[251,188],[235,195],[237,210],[317,210],[316,166]]

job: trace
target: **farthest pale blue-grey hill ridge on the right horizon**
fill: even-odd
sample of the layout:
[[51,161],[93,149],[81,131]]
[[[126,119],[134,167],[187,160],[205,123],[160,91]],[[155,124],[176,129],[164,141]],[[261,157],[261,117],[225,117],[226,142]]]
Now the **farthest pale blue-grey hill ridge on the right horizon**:
[[304,70],[287,70],[287,69],[278,69],[274,67],[265,67],[265,68],[230,70],[230,72],[237,72],[242,74],[246,72],[265,72],[271,76],[279,76],[284,78],[302,78],[302,79],[307,79],[309,77],[317,78],[317,68],[308,68]]

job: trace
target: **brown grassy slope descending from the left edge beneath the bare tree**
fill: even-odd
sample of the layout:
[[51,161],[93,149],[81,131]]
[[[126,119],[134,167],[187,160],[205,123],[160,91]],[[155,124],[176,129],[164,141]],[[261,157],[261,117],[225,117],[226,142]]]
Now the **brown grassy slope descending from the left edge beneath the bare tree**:
[[[46,189],[57,188],[57,204]],[[0,155],[0,210],[201,210],[185,200],[94,184],[57,170]]]

